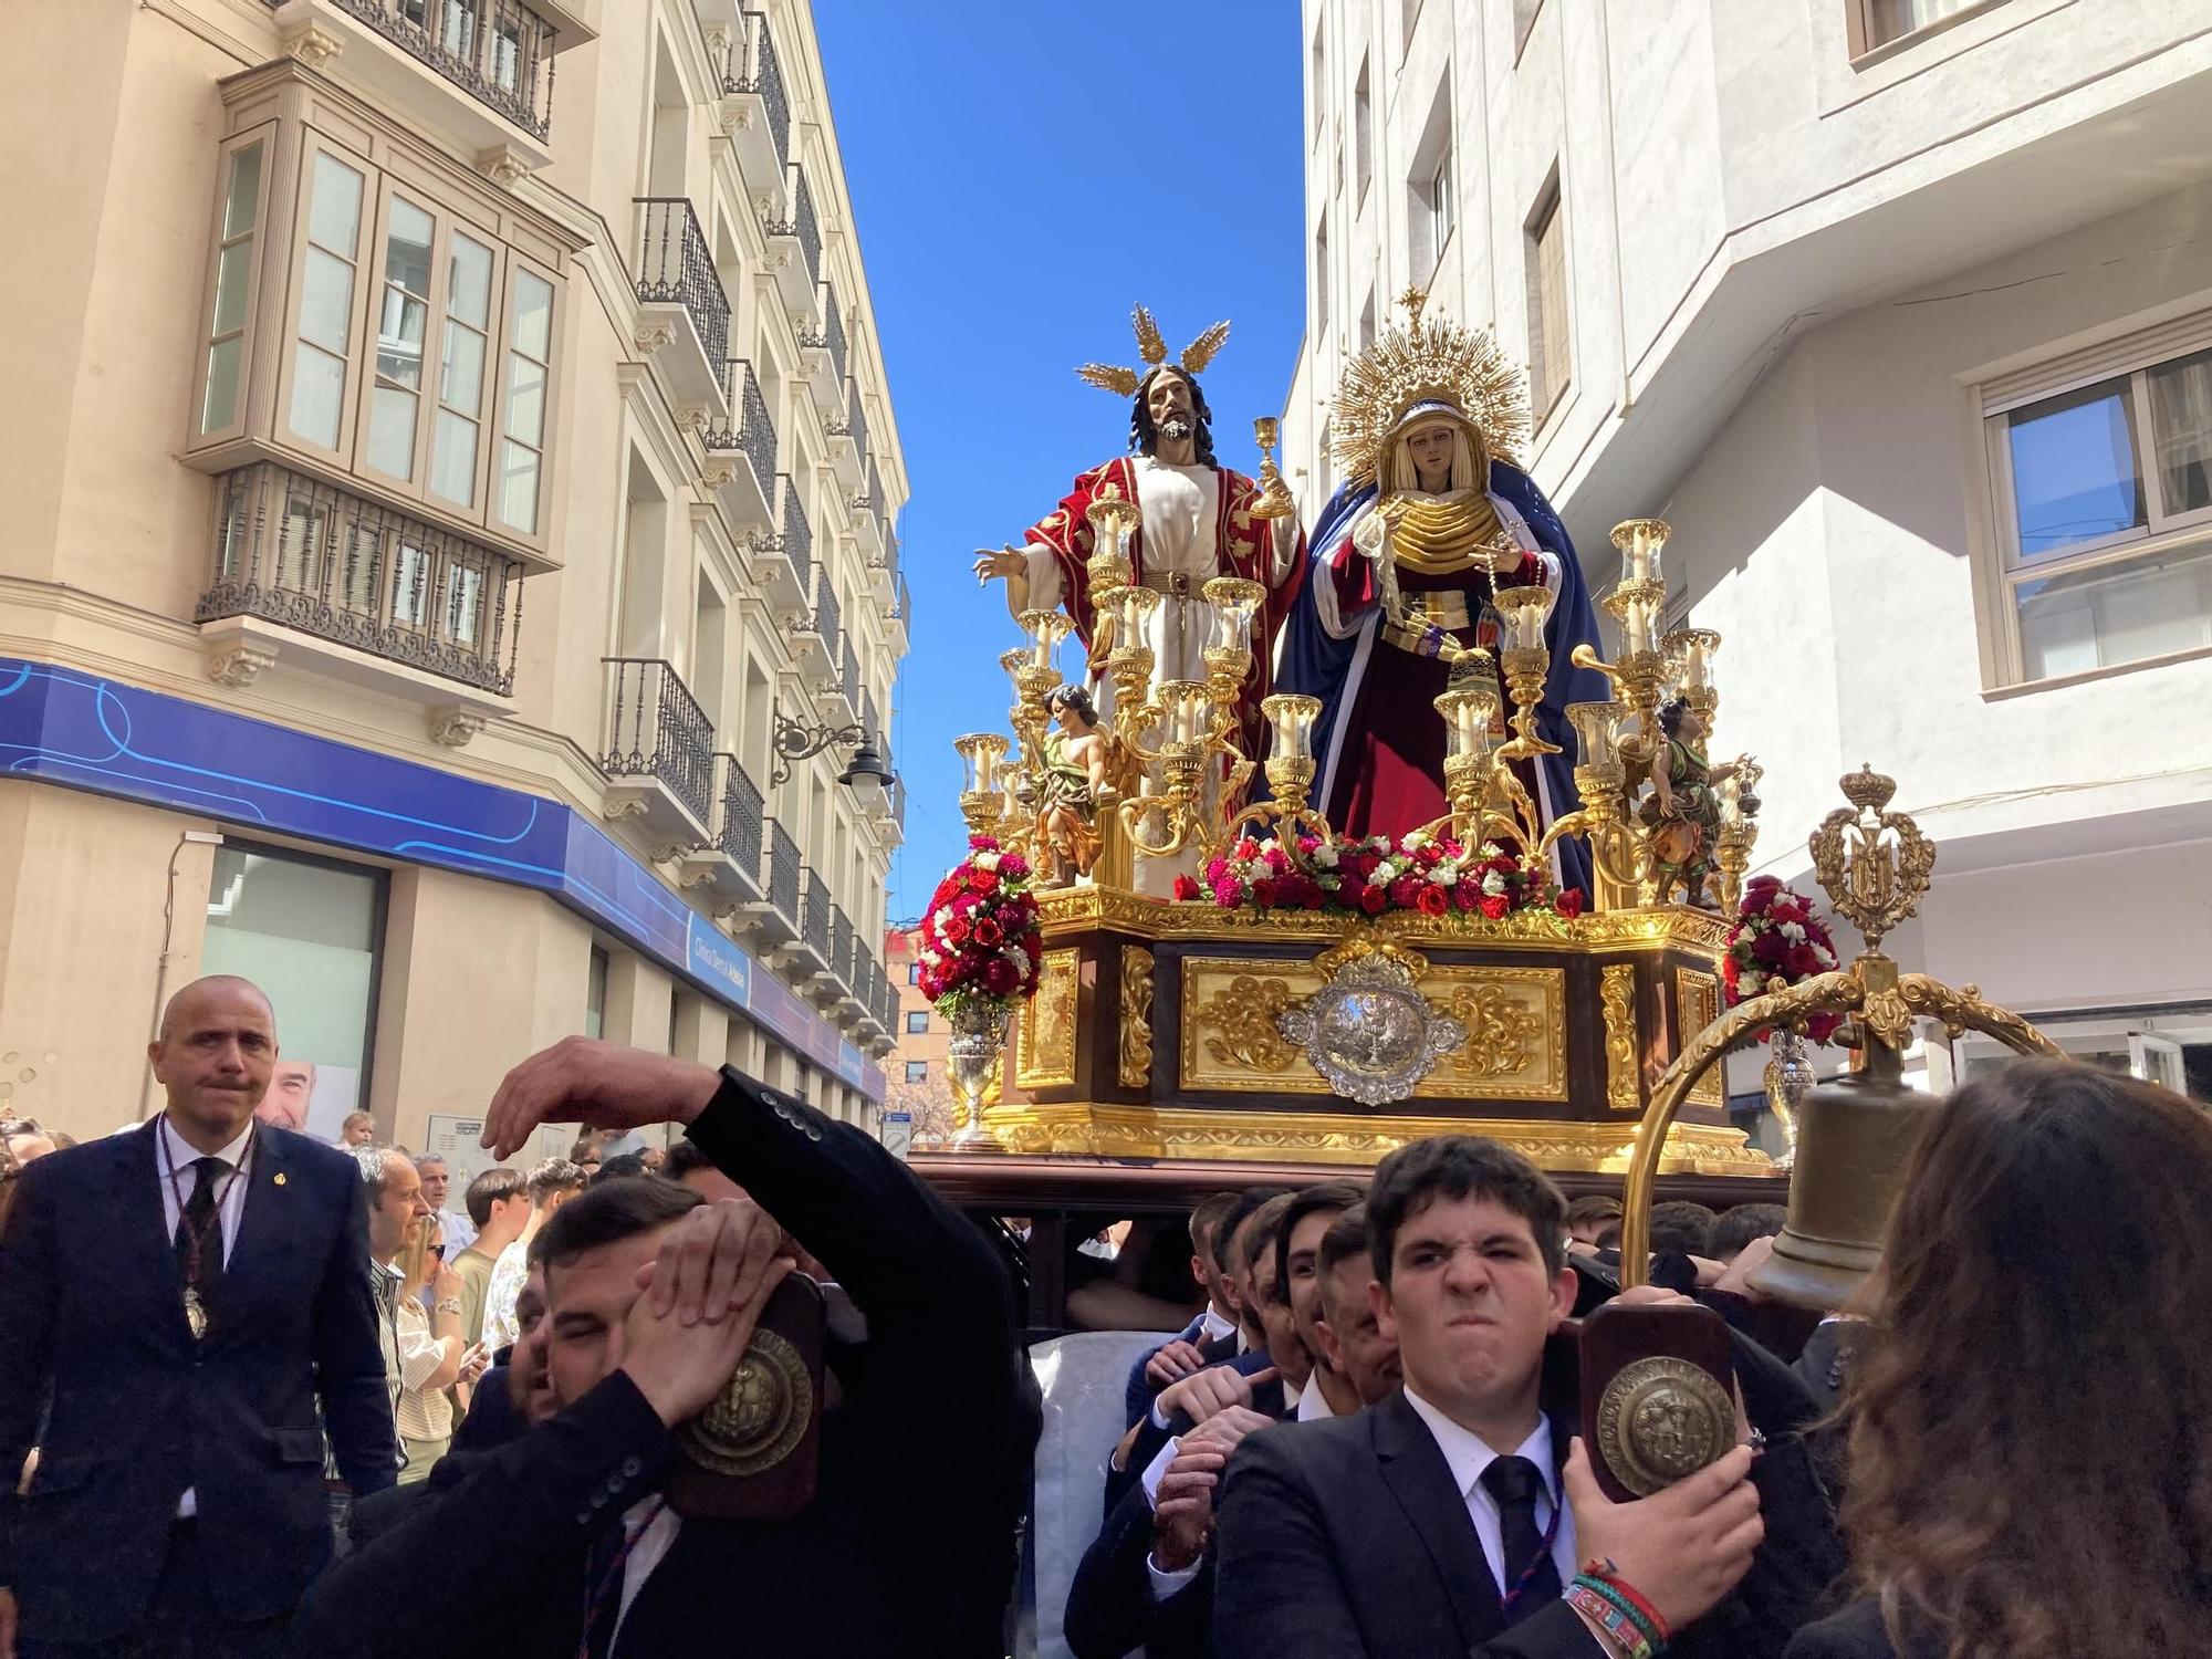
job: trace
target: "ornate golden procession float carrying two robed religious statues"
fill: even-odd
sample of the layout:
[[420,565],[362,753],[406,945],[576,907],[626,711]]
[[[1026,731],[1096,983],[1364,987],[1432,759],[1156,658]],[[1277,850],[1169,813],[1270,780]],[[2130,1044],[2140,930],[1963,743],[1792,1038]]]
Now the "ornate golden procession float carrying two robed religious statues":
[[1712,759],[1721,637],[1663,628],[1668,526],[1613,531],[1593,606],[1515,465],[1520,369],[1418,290],[1402,307],[1336,389],[1343,482],[1310,535],[1274,420],[1256,478],[1214,458],[1199,378],[1228,325],[1170,356],[1139,307],[1141,365],[1079,369],[1128,398],[1128,453],[975,560],[1022,644],[1009,730],[956,743],[969,856],[918,964],[960,1110],[911,1164],[1031,1221],[1035,1323],[1060,1323],[1060,1225],[1427,1135],[1515,1146],[1568,1192],[1626,1183],[1632,1210],[1781,1199],[1790,1155],[1730,1126],[1717,1062],[1770,1037],[1767,1095],[1812,1141],[1807,1033],[1882,1097],[1825,1133],[1849,1166],[1829,1210],[1792,1214],[1803,1272],[1849,1274],[1911,1020],[2042,1044],[1878,953],[1933,847],[1871,770],[1814,834],[1856,962],[1801,894],[1745,891],[1761,765]]

